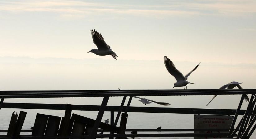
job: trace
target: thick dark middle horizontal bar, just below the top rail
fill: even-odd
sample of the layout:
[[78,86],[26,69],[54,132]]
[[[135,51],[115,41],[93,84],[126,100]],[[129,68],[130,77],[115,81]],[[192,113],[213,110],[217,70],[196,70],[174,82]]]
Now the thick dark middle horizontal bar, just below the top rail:
[[[2,103],[2,108],[20,108],[20,109],[47,109],[47,110],[65,110],[65,104],[40,104],[40,103]],[[80,111],[99,111],[97,105],[72,105],[72,110]],[[124,112],[126,107],[123,107]],[[119,106],[107,106],[108,112],[119,111]],[[170,108],[170,107],[129,107],[128,112],[145,113],[178,113],[178,114],[213,114],[213,115],[234,115],[236,110],[232,109],[199,109],[199,108]],[[239,110],[238,115],[244,115],[245,110]]]

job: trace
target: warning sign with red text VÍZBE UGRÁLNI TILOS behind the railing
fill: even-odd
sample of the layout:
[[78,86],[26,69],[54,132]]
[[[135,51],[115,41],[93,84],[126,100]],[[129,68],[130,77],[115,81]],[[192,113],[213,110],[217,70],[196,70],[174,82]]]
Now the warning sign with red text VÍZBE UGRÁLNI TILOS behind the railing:
[[[229,129],[234,116],[195,115],[194,129]],[[194,133],[221,133],[225,131],[195,131]],[[227,132],[227,131],[226,131]],[[194,138],[227,138],[227,137],[194,137]]]

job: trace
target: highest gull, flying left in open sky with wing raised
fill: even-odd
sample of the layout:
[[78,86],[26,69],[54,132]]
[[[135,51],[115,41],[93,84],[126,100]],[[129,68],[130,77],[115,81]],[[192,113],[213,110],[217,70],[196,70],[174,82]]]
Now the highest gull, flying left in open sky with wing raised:
[[95,53],[96,55],[99,55],[99,56],[111,55],[116,60],[116,57],[117,57],[116,53],[111,50],[108,44],[106,44],[106,42],[104,41],[104,38],[101,36],[101,33],[97,32],[96,30],[91,30],[91,33],[92,33],[93,43],[96,44],[98,49],[92,49],[89,52]]

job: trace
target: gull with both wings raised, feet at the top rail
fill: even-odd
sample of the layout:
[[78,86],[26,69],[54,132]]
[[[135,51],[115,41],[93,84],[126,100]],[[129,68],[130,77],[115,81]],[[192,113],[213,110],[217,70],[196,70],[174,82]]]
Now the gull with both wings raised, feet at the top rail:
[[[199,63],[200,64],[200,63]],[[184,87],[191,82],[186,81],[186,79],[188,78],[188,76],[195,71],[195,69],[199,66],[199,64],[193,69],[191,70],[188,74],[186,74],[185,76],[175,68],[173,62],[166,56],[164,56],[164,65],[166,67],[166,69],[168,70],[168,72],[170,74],[173,75],[173,77],[177,80],[177,82],[174,83],[173,88],[174,87]],[[194,83],[191,83],[194,84]],[[187,89],[187,86],[186,86]]]

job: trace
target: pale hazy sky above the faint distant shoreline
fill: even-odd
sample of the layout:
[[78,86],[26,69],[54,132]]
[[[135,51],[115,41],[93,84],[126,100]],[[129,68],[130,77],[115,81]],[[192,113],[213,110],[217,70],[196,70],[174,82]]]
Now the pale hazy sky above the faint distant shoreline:
[[96,29],[118,59],[255,64],[255,7],[254,0],[0,0],[0,56],[99,58],[87,53]]

